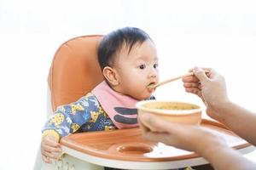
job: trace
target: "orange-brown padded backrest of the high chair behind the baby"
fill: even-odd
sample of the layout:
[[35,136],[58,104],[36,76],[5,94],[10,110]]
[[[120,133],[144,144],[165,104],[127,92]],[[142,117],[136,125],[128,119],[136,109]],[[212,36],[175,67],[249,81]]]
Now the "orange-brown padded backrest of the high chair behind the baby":
[[51,108],[72,103],[103,80],[97,62],[102,36],[75,37],[56,51],[49,70]]

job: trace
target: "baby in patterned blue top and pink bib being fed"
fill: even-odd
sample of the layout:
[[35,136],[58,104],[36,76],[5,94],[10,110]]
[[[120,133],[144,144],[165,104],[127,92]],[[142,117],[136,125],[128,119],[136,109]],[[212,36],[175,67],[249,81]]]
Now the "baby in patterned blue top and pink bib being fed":
[[146,32],[134,27],[112,31],[102,38],[98,62],[105,81],[70,105],[61,105],[42,130],[45,162],[58,159],[59,141],[70,133],[137,127],[139,100],[154,99],[148,85],[159,81],[158,56]]

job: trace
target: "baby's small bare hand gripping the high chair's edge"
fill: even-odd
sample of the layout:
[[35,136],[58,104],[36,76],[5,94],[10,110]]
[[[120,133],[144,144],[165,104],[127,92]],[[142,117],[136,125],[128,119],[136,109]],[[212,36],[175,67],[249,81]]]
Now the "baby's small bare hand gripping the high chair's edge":
[[45,136],[41,142],[41,154],[46,163],[51,163],[51,159],[58,160],[61,154],[61,144],[57,142],[55,137]]

